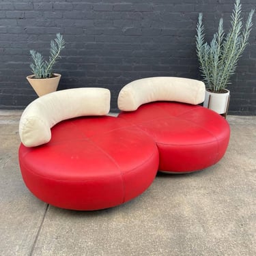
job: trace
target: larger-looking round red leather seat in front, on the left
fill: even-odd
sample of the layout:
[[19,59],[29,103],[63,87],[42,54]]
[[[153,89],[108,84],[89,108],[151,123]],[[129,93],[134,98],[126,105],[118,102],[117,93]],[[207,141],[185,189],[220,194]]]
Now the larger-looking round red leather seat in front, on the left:
[[143,193],[156,176],[156,143],[122,119],[68,119],[51,132],[50,142],[19,149],[23,180],[46,203],[72,210],[110,208]]

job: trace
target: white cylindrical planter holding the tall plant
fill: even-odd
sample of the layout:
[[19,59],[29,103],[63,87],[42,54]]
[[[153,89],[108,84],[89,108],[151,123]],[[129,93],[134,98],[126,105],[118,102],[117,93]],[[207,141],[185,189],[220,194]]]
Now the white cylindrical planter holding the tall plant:
[[203,106],[208,109],[212,109],[216,113],[224,114],[227,112],[227,104],[229,102],[229,90],[223,94],[217,94],[211,91],[205,91],[205,101]]

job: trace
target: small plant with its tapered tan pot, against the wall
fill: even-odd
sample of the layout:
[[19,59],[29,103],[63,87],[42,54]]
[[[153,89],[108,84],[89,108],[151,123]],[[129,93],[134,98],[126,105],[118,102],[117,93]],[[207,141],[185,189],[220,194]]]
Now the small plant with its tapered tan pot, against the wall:
[[34,50],[30,51],[33,59],[30,68],[33,74],[27,76],[27,80],[38,96],[56,91],[61,74],[54,73],[53,66],[57,60],[61,58],[60,53],[63,48],[65,48],[65,41],[62,35],[57,33],[55,40],[51,40],[50,57],[48,61],[44,61],[41,53],[37,53]]

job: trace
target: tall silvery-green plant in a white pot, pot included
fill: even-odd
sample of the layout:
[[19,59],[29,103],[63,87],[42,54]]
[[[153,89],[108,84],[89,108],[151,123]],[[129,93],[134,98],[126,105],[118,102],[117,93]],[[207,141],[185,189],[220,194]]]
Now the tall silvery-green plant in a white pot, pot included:
[[231,14],[231,28],[225,35],[223,18],[218,24],[218,32],[208,44],[205,42],[203,15],[200,13],[197,23],[197,57],[199,69],[203,76],[206,93],[203,106],[213,109],[217,113],[227,115],[229,102],[230,78],[236,71],[238,59],[242,56],[253,26],[252,18],[255,10],[248,14],[245,26],[242,25],[242,5],[236,0]]

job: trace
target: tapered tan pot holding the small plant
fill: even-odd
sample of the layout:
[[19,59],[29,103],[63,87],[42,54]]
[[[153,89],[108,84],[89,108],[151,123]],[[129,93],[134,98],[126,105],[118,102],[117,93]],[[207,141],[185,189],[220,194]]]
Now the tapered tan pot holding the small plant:
[[33,76],[33,74],[27,76],[27,81],[29,81],[39,97],[56,91],[61,79],[61,74],[54,74],[51,79],[33,79]]

